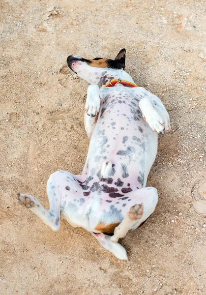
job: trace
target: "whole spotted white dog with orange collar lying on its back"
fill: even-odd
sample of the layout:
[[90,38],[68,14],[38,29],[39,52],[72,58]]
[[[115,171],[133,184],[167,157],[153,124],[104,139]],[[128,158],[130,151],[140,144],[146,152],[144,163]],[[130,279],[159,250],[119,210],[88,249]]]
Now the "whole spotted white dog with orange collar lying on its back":
[[118,259],[127,260],[118,239],[138,228],[153,213],[158,194],[146,187],[157,154],[158,133],[170,130],[161,100],[137,87],[125,68],[125,49],[116,59],[69,56],[69,69],[90,85],[85,129],[90,138],[83,172],[53,173],[47,182],[50,209],[27,194],[19,205],[29,208],[53,231],[60,216],[89,231]]

